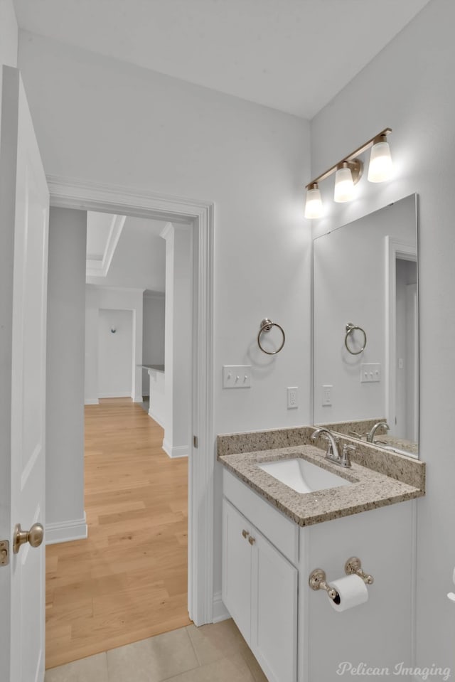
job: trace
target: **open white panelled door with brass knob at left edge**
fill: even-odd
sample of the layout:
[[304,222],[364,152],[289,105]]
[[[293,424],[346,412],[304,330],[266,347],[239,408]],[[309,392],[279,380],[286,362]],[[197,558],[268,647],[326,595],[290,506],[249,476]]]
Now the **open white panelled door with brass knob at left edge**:
[[[0,678],[44,678],[44,543],[18,553],[14,529],[44,526],[48,186],[18,70],[4,67],[0,119]],[[24,540],[26,540],[26,536]]]

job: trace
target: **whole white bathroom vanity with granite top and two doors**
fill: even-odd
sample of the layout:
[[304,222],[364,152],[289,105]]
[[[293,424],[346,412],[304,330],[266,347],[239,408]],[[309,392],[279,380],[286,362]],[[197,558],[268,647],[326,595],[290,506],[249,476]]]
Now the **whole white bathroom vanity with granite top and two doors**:
[[[225,607],[269,682],[331,681],[343,661],[410,666],[415,499],[424,495],[424,464],[357,443],[352,467],[342,469],[315,447],[312,432],[218,437]],[[286,479],[299,460],[323,472],[308,493]],[[322,568],[330,584],[353,556],[374,583],[368,602],[336,612],[324,590],[311,590],[309,575]]]

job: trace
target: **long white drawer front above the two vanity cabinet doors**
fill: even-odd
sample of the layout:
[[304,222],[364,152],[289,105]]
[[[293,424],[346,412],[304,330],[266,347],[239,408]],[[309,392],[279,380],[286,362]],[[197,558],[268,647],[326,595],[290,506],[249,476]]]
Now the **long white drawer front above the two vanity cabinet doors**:
[[299,526],[223,469],[223,495],[294,565],[299,562]]

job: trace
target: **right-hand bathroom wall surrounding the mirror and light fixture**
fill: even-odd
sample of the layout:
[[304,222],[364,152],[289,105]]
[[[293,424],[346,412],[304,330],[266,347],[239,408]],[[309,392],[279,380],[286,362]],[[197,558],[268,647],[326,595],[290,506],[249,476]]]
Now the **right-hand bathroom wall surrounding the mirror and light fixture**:
[[[446,592],[455,565],[454,24],[455,4],[432,0],[311,122],[312,176],[375,132],[393,129],[395,179],[364,181],[358,201],[347,206],[331,201],[331,181],[322,183],[330,204],[324,228],[412,192],[420,196],[419,452],[427,495],[417,505],[417,663],[452,666],[452,673],[455,612]],[[372,636],[384,627],[378,623]]]

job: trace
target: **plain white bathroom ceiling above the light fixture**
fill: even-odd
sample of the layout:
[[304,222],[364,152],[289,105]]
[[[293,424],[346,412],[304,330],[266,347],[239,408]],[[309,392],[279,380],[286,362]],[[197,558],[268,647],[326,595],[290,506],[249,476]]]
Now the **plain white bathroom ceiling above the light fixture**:
[[14,0],[21,28],[311,119],[429,0]]

